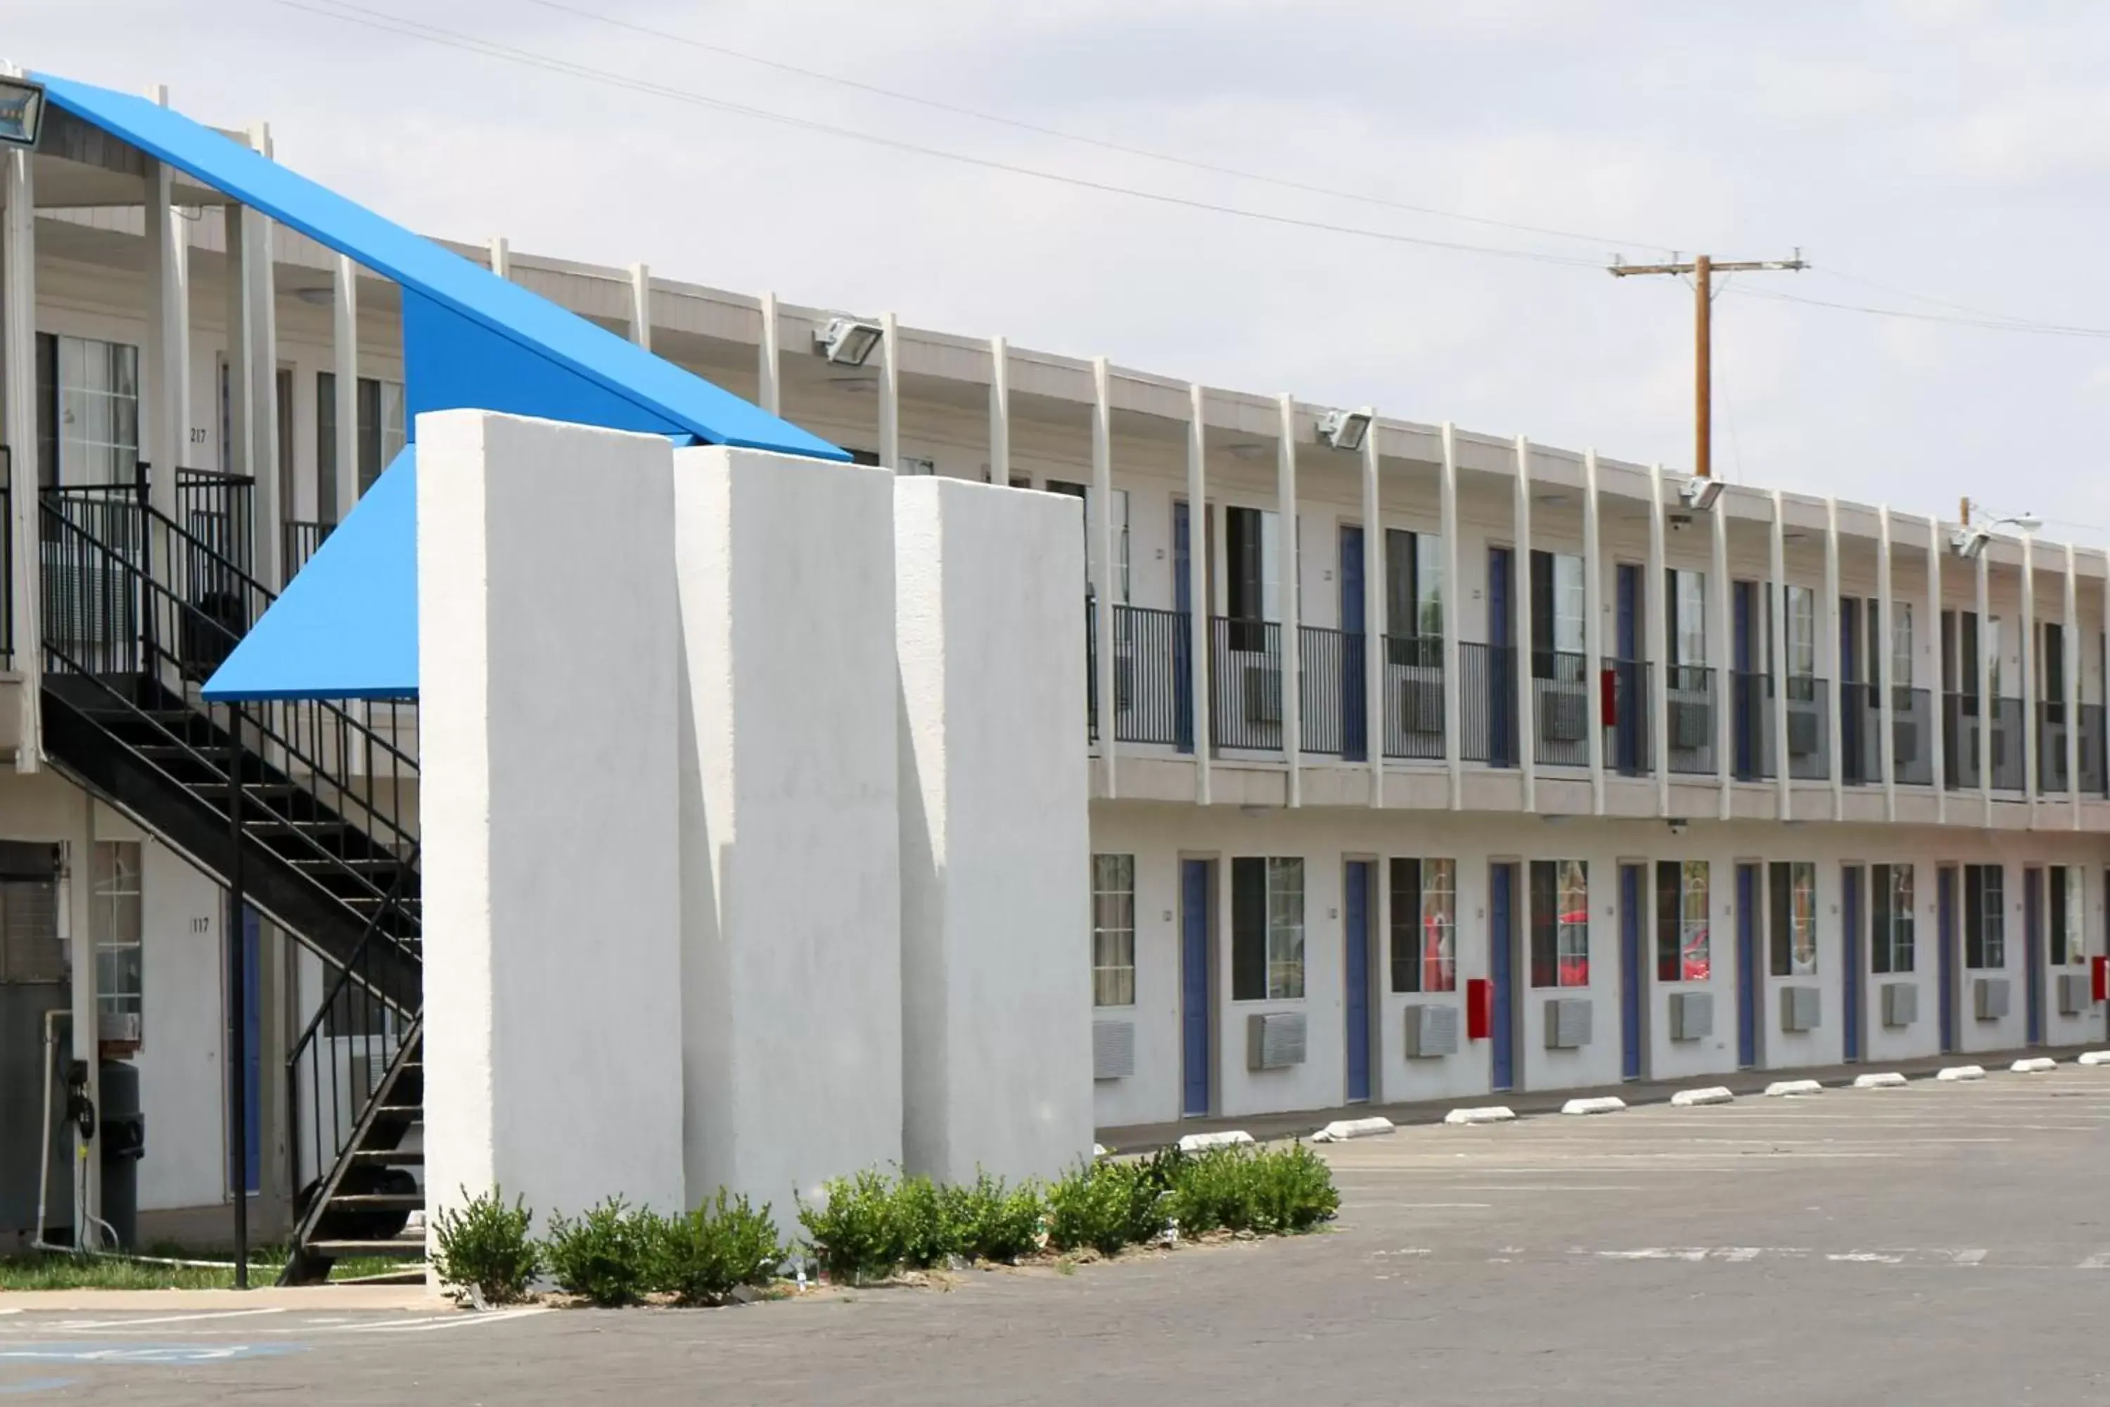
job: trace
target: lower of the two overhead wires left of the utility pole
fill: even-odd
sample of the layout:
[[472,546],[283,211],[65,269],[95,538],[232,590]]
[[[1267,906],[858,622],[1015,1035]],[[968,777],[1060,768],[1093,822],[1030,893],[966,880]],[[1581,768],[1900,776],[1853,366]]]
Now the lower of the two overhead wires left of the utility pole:
[[1072,186],[1078,190],[1097,190],[1114,196],[1129,196],[1133,200],[1150,200],[1154,205],[1169,205],[1192,211],[1209,211],[1215,215],[1236,215],[1241,219],[1255,219],[1272,226],[1287,226],[1296,230],[1321,230],[1327,234],[1350,234],[1357,238],[1374,238],[1393,245],[1416,245],[1420,249],[1447,249],[1454,253],[1479,253],[1498,259],[1526,259],[1532,264],[1557,264],[1566,268],[1597,268],[1595,259],[1585,259],[1576,255],[1545,253],[1534,249],[1504,249],[1498,245],[1471,245],[1464,240],[1443,240],[1428,238],[1420,234],[1401,234],[1397,230],[1372,230],[1367,226],[1344,226],[1327,219],[1304,219],[1298,215],[1277,215],[1272,211],[1255,211],[1239,205],[1217,205],[1213,200],[1196,200],[1190,196],[1175,196],[1160,190],[1144,190],[1137,186],[1120,186],[1114,181],[1095,181],[1080,175],[1066,175],[1059,171],[1044,171],[1040,167],[1021,167],[1017,162],[994,160],[987,156],[968,156],[966,152],[947,152],[943,148],[922,146],[916,141],[903,141],[899,137],[882,137],[878,133],[857,131],[852,127],[836,127],[829,122],[817,122],[812,118],[798,118],[785,112],[772,112],[768,108],[751,108],[747,103],[730,103],[726,99],[709,97],[696,93],[694,89],[675,89],[660,82],[650,82],[644,78],[631,78],[627,74],[614,74],[610,70],[591,68],[587,63],[574,63],[572,59],[553,59],[549,55],[536,53],[532,49],[517,49],[513,44],[498,44],[494,40],[479,38],[475,34],[462,34],[460,30],[443,30],[441,25],[430,25],[422,19],[407,19],[403,15],[390,15],[386,11],[371,11],[359,4],[346,4],[346,0],[323,0],[335,8],[321,8],[321,4],[302,4],[302,0],[272,0],[289,11],[304,11],[308,15],[321,15],[323,19],[335,19],[340,23],[363,25],[367,30],[380,30],[384,34],[397,34],[403,38],[424,40],[428,44],[441,44],[447,49],[460,49],[464,53],[483,55],[490,59],[502,59],[509,63],[521,63],[528,68],[540,68],[553,74],[563,74],[570,78],[584,78],[589,82],[599,82],[616,89],[627,89],[633,93],[648,93],[654,97],[667,97],[673,101],[690,103],[696,108],[709,108],[715,112],[732,112],[738,116],[760,118],[764,122],[781,122],[800,131],[821,133],[829,137],[848,137],[852,141],[863,141],[869,146],[882,146],[897,152],[914,152],[918,156],[933,156],[939,160],[952,160],[966,167],[979,167],[983,171],[1004,171],[1009,175],[1025,175],[1040,181],[1055,181],[1059,186]]

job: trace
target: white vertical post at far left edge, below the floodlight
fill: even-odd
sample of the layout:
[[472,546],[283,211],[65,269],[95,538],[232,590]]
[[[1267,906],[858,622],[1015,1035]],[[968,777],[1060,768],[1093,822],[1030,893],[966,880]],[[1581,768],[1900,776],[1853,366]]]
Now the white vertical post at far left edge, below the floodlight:
[[[21,72],[21,70],[13,70]],[[8,445],[6,525],[15,546],[15,671],[21,675],[21,740],[15,770],[42,766],[44,637],[38,605],[42,574],[38,557],[38,462],[36,462],[36,181],[30,152],[0,152],[0,363],[6,386],[0,394],[0,432]]]

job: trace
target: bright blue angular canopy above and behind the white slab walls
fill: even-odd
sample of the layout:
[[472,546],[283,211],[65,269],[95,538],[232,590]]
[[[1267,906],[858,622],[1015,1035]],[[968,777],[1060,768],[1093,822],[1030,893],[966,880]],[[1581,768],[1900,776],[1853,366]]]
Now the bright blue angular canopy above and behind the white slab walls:
[[[143,97],[38,74],[51,103],[403,289],[416,416],[492,409],[682,443],[850,456]],[[340,466],[342,473],[342,466]],[[405,451],[205,686],[207,698],[416,698],[418,492]]]

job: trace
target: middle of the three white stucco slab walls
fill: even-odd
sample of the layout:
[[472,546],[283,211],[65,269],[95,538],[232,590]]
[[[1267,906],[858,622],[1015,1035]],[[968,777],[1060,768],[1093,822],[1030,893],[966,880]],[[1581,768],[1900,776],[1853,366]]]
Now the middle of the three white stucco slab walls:
[[789,1226],[901,1158],[893,475],[684,449],[673,521],[688,1183]]

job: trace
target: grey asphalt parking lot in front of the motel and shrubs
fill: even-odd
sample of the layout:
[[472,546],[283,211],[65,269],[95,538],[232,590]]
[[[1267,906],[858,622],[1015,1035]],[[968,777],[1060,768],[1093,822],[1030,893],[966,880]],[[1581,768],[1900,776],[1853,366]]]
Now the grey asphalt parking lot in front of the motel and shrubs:
[[[1414,1126],[1331,1232],[720,1312],[0,1314],[129,1403],[2089,1403],[2110,1067]],[[224,1314],[213,1310],[209,1314]],[[160,1321],[160,1323],[156,1323]]]

